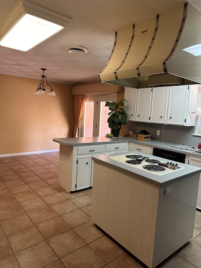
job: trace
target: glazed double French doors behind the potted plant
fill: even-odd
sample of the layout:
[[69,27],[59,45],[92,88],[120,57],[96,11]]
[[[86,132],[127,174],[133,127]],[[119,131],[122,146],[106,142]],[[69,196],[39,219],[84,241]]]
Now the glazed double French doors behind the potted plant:
[[107,118],[110,110],[106,101],[117,101],[117,95],[86,96],[84,112],[79,127],[79,137],[103,137],[111,132]]

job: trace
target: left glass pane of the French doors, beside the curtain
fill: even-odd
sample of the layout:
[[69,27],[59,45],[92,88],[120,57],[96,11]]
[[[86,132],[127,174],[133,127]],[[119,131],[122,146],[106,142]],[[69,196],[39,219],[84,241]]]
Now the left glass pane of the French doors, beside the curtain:
[[84,137],[93,137],[94,102],[85,101],[84,105]]

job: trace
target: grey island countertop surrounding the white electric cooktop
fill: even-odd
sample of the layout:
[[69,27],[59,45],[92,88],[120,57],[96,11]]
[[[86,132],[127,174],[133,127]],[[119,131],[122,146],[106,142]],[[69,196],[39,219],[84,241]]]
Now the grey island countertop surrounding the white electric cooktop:
[[[139,152],[136,151],[129,151],[130,154],[139,154]],[[118,153],[118,154],[109,154],[109,155],[101,155],[101,156],[92,156],[92,159],[98,163],[101,163],[103,165],[106,165],[108,167],[112,167],[114,169],[117,169],[123,173],[127,173],[128,175],[135,176],[137,178],[143,179],[145,181],[148,181],[149,183],[153,183],[157,186],[163,187],[165,185],[169,185],[173,182],[179,181],[184,178],[191,177],[195,174],[201,173],[201,168],[194,167],[191,165],[186,165],[181,163],[182,167],[185,167],[183,169],[177,169],[173,172],[166,173],[163,175],[156,175],[154,172],[148,172],[146,170],[138,169],[137,167],[134,167],[133,165],[127,165],[118,161],[115,161],[113,159],[110,159],[110,156],[117,156],[117,155],[125,155],[126,152]],[[147,156],[149,158],[153,158],[153,156],[143,153],[143,156]],[[162,162],[167,162],[167,159],[156,157],[154,156],[154,159],[160,160]]]

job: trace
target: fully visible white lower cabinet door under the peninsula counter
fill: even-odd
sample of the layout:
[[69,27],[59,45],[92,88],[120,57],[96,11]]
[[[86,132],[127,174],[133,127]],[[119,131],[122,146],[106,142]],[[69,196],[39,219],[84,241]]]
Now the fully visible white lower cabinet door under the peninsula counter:
[[91,186],[91,156],[78,157],[76,190]]

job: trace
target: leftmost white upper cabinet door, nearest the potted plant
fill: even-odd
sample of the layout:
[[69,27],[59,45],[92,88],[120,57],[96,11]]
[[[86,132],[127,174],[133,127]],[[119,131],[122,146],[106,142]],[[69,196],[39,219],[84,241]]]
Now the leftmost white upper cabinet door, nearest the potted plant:
[[136,114],[136,95],[137,95],[137,89],[136,88],[125,88],[125,95],[124,99],[125,106],[124,109],[127,112],[127,118],[128,120],[135,120],[135,114]]

